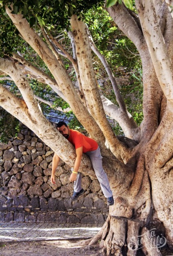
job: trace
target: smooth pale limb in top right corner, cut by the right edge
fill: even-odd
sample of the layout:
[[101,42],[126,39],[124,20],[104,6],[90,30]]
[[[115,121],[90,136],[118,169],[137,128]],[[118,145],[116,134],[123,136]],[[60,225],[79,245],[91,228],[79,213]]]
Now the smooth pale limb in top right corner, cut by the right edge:
[[[136,0],[143,33],[157,78],[167,101],[173,104],[173,65],[164,43],[152,0]],[[154,24],[154,25],[153,25]]]

